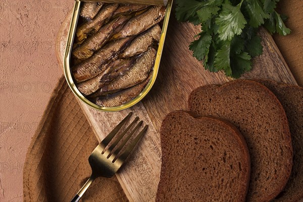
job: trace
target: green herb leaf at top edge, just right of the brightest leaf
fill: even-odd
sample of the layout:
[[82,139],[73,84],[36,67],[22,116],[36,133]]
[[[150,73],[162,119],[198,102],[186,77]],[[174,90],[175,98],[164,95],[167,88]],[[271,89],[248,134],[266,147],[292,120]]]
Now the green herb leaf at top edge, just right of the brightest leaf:
[[264,24],[264,18],[270,18],[270,15],[263,11],[258,0],[247,1],[245,8],[250,17],[249,24],[252,27],[259,27]]

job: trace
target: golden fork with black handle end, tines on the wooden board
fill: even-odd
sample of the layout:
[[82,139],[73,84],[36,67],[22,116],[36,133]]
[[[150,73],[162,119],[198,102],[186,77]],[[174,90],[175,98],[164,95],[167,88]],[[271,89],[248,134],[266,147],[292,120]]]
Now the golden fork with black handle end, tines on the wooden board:
[[[123,153],[118,157],[119,152],[122,147],[126,144],[133,133],[142,125],[143,121],[140,121],[136,127],[128,134],[128,136],[123,140],[119,147],[113,151],[119,141],[124,137],[127,131],[138,121],[138,117],[121,133],[121,135],[113,142],[108,149],[105,149],[114,136],[118,133],[121,127],[129,120],[132,116],[132,112],[127,115],[113,130],[104,138],[104,140],[92,151],[88,158],[89,165],[91,167],[91,176],[80,189],[80,191],[75,195],[71,202],[78,202],[83,196],[84,192],[88,189],[91,183],[97,177],[113,177],[114,174],[120,169],[120,167],[125,162],[126,158],[131,153],[132,149],[135,147],[139,139],[142,137],[144,132],[147,130],[148,125],[146,125],[141,132],[132,140],[132,142],[126,147]],[[112,152],[113,151],[113,152]]]

